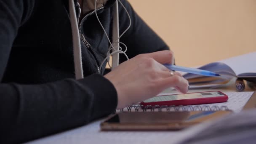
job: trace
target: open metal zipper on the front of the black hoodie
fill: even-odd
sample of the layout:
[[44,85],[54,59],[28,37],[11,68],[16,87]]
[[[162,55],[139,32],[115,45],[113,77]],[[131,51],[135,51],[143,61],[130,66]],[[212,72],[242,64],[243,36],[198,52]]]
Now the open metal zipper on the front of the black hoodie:
[[[80,8],[80,7],[79,7]],[[101,9],[103,9],[104,7],[100,7],[100,8],[97,8],[96,11],[99,11]],[[81,11],[81,8],[80,8],[80,11]],[[97,63],[97,70],[98,70],[98,73],[99,73],[99,61],[96,57],[96,54],[93,52],[93,49],[91,48],[91,45],[90,43],[85,39],[85,36],[82,34],[82,24],[83,22],[85,21],[85,19],[88,17],[88,16],[91,16],[92,14],[94,14],[95,11],[91,11],[90,13],[87,13],[83,19],[80,21],[79,25],[78,25],[78,29],[79,29],[79,34],[80,34],[80,39],[83,41],[83,43],[85,44],[85,46],[87,47],[87,49],[91,52],[91,54],[93,55],[96,63]],[[80,17],[80,13],[78,15],[78,21],[79,21],[79,17]]]

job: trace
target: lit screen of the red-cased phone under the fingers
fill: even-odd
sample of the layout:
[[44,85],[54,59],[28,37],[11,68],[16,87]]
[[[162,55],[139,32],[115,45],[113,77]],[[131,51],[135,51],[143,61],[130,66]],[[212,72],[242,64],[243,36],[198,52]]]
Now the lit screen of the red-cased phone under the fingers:
[[181,100],[181,99],[198,99],[198,98],[209,98],[209,97],[216,97],[216,96],[225,96],[225,94],[221,93],[220,91],[210,91],[210,92],[201,92],[201,93],[184,93],[184,94],[177,94],[177,95],[155,96],[143,102],[148,103],[148,102],[157,102],[157,101],[174,101],[174,100]]

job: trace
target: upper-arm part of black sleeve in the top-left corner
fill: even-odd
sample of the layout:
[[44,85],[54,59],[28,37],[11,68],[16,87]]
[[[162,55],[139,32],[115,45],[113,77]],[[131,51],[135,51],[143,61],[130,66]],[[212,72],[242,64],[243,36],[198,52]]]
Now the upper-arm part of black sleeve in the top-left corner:
[[33,0],[0,0],[0,80],[18,29],[29,17],[33,5]]

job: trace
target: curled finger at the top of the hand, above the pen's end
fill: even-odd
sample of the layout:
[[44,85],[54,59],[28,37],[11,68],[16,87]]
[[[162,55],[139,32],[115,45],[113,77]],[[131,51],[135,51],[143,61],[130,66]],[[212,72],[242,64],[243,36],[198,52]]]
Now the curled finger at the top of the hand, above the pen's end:
[[172,51],[157,51],[154,53],[141,54],[142,57],[149,57],[155,59],[160,64],[172,64],[173,63],[173,52]]

